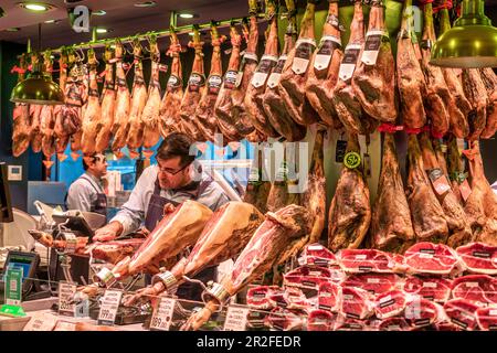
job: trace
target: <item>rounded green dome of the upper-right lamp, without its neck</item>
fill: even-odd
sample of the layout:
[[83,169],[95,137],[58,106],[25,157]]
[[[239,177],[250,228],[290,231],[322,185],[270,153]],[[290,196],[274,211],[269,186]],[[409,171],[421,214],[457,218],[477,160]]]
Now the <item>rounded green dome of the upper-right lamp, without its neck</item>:
[[430,64],[444,67],[497,67],[497,29],[454,26],[435,42]]

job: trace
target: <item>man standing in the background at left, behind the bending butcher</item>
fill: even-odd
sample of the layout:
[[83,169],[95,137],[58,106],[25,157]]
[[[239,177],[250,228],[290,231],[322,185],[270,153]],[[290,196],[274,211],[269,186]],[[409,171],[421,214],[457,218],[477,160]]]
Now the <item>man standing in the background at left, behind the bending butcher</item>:
[[107,196],[102,182],[107,174],[105,156],[95,153],[84,157],[83,169],[84,174],[76,179],[67,191],[67,210],[95,212],[107,216]]

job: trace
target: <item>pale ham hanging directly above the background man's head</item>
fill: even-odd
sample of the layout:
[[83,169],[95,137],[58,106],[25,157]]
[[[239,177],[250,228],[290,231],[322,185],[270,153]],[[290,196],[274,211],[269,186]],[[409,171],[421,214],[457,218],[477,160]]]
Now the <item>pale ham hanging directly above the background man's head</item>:
[[81,139],[83,154],[93,154],[96,151],[96,137],[102,128],[102,107],[98,95],[97,65],[98,62],[93,50],[88,51],[89,92],[88,103],[83,114],[83,136]]

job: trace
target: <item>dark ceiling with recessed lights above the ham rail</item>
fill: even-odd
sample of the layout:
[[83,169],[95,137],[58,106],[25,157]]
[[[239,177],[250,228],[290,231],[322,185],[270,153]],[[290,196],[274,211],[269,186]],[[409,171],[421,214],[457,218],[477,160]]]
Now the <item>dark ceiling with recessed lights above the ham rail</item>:
[[[31,39],[33,45],[38,39],[38,23],[46,20],[60,20],[56,24],[42,24],[42,47],[55,49],[62,45],[88,42],[91,33],[76,33],[67,19],[67,8],[86,6],[96,10],[105,10],[106,15],[92,15],[92,26],[105,26],[112,32],[98,34],[98,39],[120,38],[146,33],[169,28],[171,11],[188,11],[198,14],[194,19],[178,18],[178,25],[208,23],[211,20],[228,20],[244,17],[248,12],[247,0],[156,0],[156,7],[136,8],[136,2],[144,0],[39,0],[55,8],[45,13],[33,13],[19,7],[22,0],[0,0],[0,7],[6,15],[0,18],[0,41],[25,44]],[[350,0],[342,0],[350,4]],[[398,0],[402,1],[402,0]],[[75,3],[67,3],[75,2]],[[326,1],[321,1],[326,7]],[[305,3],[305,0],[299,0]],[[495,17],[497,0],[486,0],[486,9]],[[491,14],[490,14],[491,13]],[[495,20],[494,20],[495,22]],[[6,31],[9,28],[20,28],[18,32]],[[188,35],[183,36],[187,41]]]

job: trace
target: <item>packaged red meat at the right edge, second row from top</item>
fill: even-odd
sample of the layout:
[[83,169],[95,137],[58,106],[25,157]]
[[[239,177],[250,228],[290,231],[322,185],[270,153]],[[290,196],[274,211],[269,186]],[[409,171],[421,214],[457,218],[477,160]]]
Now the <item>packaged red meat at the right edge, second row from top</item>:
[[497,304],[497,279],[486,275],[469,275],[452,281],[454,299],[470,300],[478,306]]

